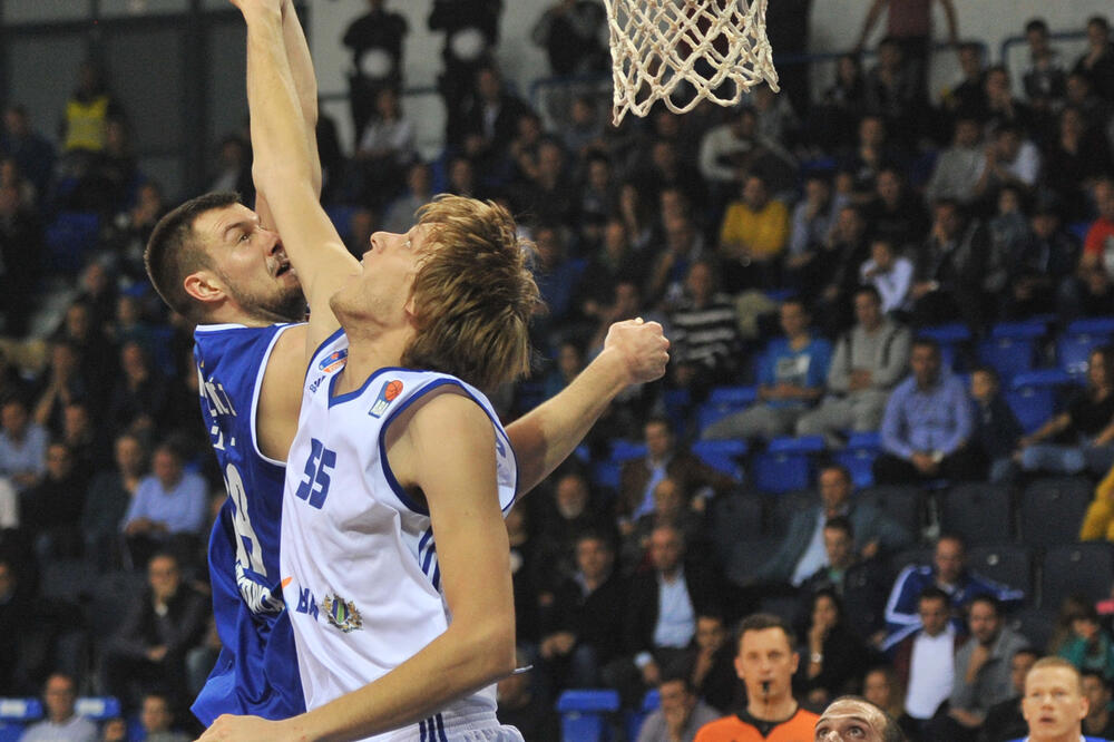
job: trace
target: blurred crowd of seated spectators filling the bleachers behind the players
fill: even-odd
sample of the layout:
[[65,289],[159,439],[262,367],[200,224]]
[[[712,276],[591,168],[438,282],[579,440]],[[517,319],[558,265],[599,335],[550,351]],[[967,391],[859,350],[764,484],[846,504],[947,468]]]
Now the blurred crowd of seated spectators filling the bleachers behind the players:
[[[599,22],[554,12],[539,43]],[[501,714],[528,740],[555,739],[574,687],[637,710],[682,675],[739,707],[731,628],[760,609],[799,629],[809,706],[862,691],[916,739],[1005,740],[1012,663],[1052,653],[1098,685],[1088,733],[1114,729],[1114,47],[1101,17],[1077,60],[1024,30],[1024,69],[960,45],[938,101],[887,39],[807,110],[760,87],[616,127],[590,84],[555,117],[490,57],[447,51],[432,162],[395,72],[353,80],[352,157],[319,127],[354,252],[439,192],[519,216],[548,311],[508,418],[614,321],[672,340],[666,378],[624,392],[508,517],[535,672],[500,685]],[[598,69],[592,45],[549,51],[556,72]],[[102,739],[188,729],[218,651],[204,543],[224,484],[193,329],[144,274],[168,204],[130,152],[140,116],[89,67],[58,141],[16,102],[0,134],[0,696],[143,710]],[[251,203],[241,133],[211,185]],[[952,660],[925,667],[931,642]]]

